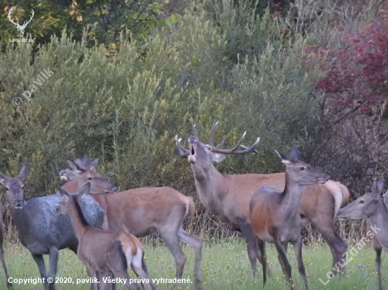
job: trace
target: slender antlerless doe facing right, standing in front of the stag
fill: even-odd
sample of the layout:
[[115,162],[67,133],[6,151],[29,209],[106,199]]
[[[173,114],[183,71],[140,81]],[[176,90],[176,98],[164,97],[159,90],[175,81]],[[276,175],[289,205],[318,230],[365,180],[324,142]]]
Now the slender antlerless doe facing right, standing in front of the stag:
[[[329,180],[329,175],[299,160],[298,149],[295,146],[292,147],[289,157],[279,151],[275,152],[281,158],[281,162],[286,165],[284,191],[277,191],[270,187],[257,190],[250,199],[250,221],[257,238],[275,245],[281,268],[286,275],[287,282],[291,284],[291,289],[293,289],[291,266],[287,260],[286,251],[287,245],[292,243],[298,260],[298,270],[308,289],[301,241],[303,222],[300,207],[303,187],[317,183],[323,184]],[[266,259],[265,244],[260,248],[260,252],[262,258]],[[262,272],[265,282],[265,267]]]

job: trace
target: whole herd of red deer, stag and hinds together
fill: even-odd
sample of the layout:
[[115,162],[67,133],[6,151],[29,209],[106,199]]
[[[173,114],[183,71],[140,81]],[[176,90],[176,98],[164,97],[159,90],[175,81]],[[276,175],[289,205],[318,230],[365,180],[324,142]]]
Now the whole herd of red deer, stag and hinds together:
[[[380,257],[382,249],[388,251],[388,226],[385,226],[388,209],[386,200],[382,199],[383,179],[373,182],[372,193],[364,194],[339,210],[342,203],[348,201],[348,189],[344,184],[330,180],[329,175],[303,163],[295,146],[289,156],[275,151],[286,165],[284,173],[222,174],[214,167],[214,162],[222,162],[230,154],[257,153],[260,139],[257,138],[250,146],[243,146],[244,133],[232,149],[221,149],[222,144],[214,146],[213,143],[216,126],[217,123],[212,127],[209,142],[198,139],[194,126],[193,136],[188,138],[188,148],[181,144],[178,137],[176,147],[191,165],[200,201],[217,219],[241,232],[253,275],[257,275],[258,260],[262,265],[263,284],[266,284],[269,269],[265,244],[274,244],[286,282],[294,289],[286,255],[287,246],[291,243],[298,271],[308,289],[302,258],[303,224],[310,222],[322,234],[332,251],[335,266],[341,265],[339,262],[347,249],[346,242],[334,227],[336,216],[341,219],[368,218],[370,226],[380,229],[373,238],[373,245],[377,256],[378,289],[382,289]],[[144,281],[149,278],[143,246],[138,238],[154,232],[159,233],[174,257],[178,279],[182,277],[186,263],[179,241],[193,248],[194,277],[199,286],[203,240],[183,229],[185,217],[195,214],[193,198],[171,187],[144,187],[117,192],[114,184],[97,172],[98,161],[98,158],[90,160],[87,156],[67,160],[67,168],[59,173],[66,183],[58,188],[58,192],[28,201],[24,201],[23,184],[28,176],[28,164],[23,165],[16,177],[0,173],[0,183],[6,192],[18,238],[37,263],[44,278],[44,289],[55,289],[59,251],[63,248],[77,254],[86,267],[87,275],[95,278],[92,281],[101,281],[102,277],[110,275],[124,279],[129,289],[138,289],[138,284],[129,282],[128,267]],[[0,260],[7,286],[11,287],[2,247],[3,212],[0,203]],[[47,254],[48,274],[43,258]],[[339,273],[344,275],[344,272],[343,266]],[[49,277],[54,280],[47,281]],[[155,289],[148,282],[142,286]],[[91,283],[91,289],[102,287],[96,282]]]

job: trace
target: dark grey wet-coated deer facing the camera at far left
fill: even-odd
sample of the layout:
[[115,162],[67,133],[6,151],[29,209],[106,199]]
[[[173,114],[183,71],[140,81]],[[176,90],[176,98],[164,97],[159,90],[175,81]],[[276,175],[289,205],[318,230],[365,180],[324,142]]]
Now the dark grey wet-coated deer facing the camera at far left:
[[[78,239],[75,236],[68,216],[59,215],[57,208],[61,201],[59,194],[40,196],[24,201],[23,181],[28,175],[28,163],[23,165],[16,177],[6,177],[0,172],[0,184],[4,185],[9,210],[14,225],[18,229],[20,243],[30,251],[40,275],[44,278],[44,289],[55,289],[56,266],[59,250],[69,248],[77,252]],[[95,172],[93,178],[99,182],[94,187],[98,192],[116,189],[111,182]],[[65,184],[68,187],[68,184]],[[64,187],[65,187],[64,186]],[[95,194],[95,191],[92,193]],[[81,205],[85,219],[90,225],[102,227],[104,212],[93,198],[87,196]],[[102,217],[102,218],[101,218]],[[49,273],[47,275],[43,255],[49,255]],[[47,278],[53,282],[47,282]]]

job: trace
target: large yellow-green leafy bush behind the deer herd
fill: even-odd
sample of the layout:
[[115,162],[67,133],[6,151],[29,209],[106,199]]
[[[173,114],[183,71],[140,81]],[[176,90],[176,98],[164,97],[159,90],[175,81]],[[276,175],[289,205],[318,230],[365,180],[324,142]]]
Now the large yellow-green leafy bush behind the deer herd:
[[[33,60],[30,44],[2,53],[0,171],[16,175],[28,160],[27,195],[40,196],[54,191],[66,158],[88,153],[101,158],[99,171],[120,189],[165,185],[194,195],[193,174],[176,153],[174,137],[186,144],[196,123],[207,141],[217,120],[216,139],[226,138],[224,146],[245,130],[245,144],[261,138],[258,156],[227,158],[220,171],[282,170],[273,147],[304,146],[321,126],[309,94],[319,73],[303,67],[309,36],[284,39],[277,31],[290,23],[268,13],[236,13],[227,25],[222,13],[237,8],[223,5],[215,9],[222,22],[197,4],[145,42],[122,39],[110,50],[88,47],[86,35],[76,43],[63,34],[40,46]],[[250,29],[241,29],[247,22]],[[241,39],[252,37],[260,49],[236,51]],[[27,101],[23,92],[44,69],[54,75]],[[23,100],[18,108],[16,97]]]

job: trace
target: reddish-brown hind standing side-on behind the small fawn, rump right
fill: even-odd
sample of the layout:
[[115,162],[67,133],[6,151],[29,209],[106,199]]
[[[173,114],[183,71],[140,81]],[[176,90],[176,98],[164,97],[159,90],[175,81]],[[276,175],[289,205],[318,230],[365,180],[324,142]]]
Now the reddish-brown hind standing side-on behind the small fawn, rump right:
[[[73,191],[78,191],[87,182],[94,184],[98,180],[90,179],[95,172],[98,160],[90,162],[88,158],[68,162],[68,169],[61,170],[61,179],[71,182]],[[85,166],[82,168],[81,166]],[[179,241],[188,244],[195,253],[195,282],[200,283],[200,262],[202,255],[202,238],[186,232],[183,220],[190,213],[195,214],[193,198],[181,194],[171,187],[144,187],[129,189],[116,194],[93,195],[104,208],[103,229],[126,232],[135,237],[145,237],[159,232],[160,237],[174,256],[176,277],[183,275],[186,255]]]

